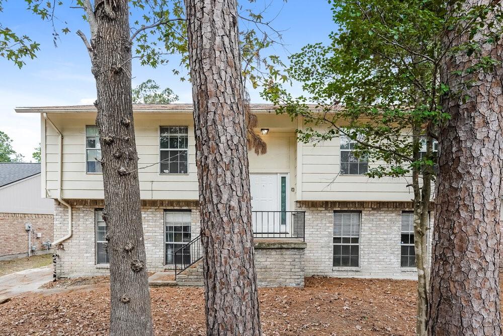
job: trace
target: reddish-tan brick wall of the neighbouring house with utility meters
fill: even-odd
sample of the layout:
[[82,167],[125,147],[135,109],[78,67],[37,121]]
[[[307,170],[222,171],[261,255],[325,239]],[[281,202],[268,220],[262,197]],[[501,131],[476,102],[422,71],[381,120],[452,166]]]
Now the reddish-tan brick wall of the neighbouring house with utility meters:
[[[28,255],[28,232],[25,223],[32,225],[34,254],[46,252],[43,243],[52,242],[53,215],[0,213],[0,259],[11,259]],[[37,233],[41,234],[37,238]]]

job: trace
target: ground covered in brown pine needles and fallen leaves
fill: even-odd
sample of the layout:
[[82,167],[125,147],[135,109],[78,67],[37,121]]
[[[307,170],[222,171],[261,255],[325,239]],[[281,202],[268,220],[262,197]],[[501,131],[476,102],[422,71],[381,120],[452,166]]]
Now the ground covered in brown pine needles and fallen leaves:
[[[398,280],[306,278],[302,289],[262,288],[264,335],[411,335],[415,285]],[[55,287],[60,292],[30,293],[0,305],[0,335],[108,334],[110,291],[104,279],[82,287]],[[152,288],[151,298],[156,335],[206,334],[202,288]]]

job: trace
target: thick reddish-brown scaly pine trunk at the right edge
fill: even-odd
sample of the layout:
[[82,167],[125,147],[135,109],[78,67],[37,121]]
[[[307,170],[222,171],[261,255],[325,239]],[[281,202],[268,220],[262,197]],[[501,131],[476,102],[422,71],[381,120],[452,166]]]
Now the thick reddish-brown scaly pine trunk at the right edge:
[[[469,0],[466,7],[489,0]],[[487,25],[486,25],[487,27]],[[469,30],[466,34],[469,34]],[[445,36],[448,43],[455,31]],[[477,38],[477,37],[476,37]],[[455,39],[461,44],[467,37]],[[501,40],[482,56],[501,62]],[[439,134],[429,334],[499,335],[499,243],[503,138],[501,65],[461,78],[474,56],[447,56],[442,80],[459,95],[443,99],[451,115]],[[462,81],[474,80],[470,89]],[[462,98],[468,96],[466,103]]]

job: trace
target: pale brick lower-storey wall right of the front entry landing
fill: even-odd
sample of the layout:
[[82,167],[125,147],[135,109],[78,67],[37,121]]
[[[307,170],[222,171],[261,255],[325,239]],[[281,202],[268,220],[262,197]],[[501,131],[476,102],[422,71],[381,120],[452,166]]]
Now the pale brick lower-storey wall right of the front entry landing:
[[[400,267],[401,213],[408,202],[299,202],[305,211],[306,276],[417,279],[415,268]],[[358,267],[333,266],[334,211],[361,211]],[[433,225],[431,212],[431,225]],[[431,256],[432,230],[428,253]],[[430,260],[430,258],[428,258]]]

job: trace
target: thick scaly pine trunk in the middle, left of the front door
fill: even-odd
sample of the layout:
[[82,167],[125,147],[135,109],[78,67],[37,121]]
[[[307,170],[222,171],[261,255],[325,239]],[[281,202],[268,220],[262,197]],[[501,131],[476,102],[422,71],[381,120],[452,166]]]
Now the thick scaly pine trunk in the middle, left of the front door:
[[235,0],[185,0],[208,335],[260,335]]

